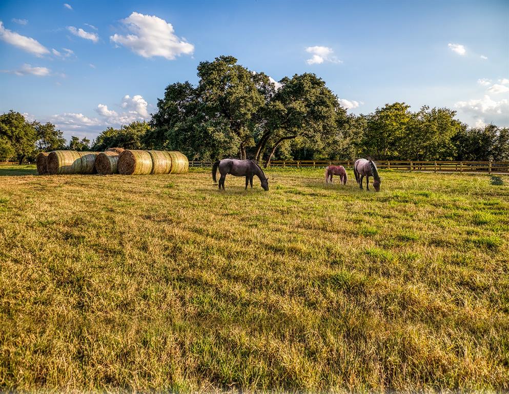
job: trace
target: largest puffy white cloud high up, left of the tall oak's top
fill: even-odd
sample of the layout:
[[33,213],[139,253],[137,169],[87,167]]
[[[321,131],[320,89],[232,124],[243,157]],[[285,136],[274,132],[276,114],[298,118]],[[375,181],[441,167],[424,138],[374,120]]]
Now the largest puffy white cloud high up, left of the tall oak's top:
[[192,54],[194,45],[175,35],[173,26],[157,16],[133,12],[122,20],[132,34],[110,36],[118,45],[130,48],[143,57],[161,56],[174,60],[181,54]]

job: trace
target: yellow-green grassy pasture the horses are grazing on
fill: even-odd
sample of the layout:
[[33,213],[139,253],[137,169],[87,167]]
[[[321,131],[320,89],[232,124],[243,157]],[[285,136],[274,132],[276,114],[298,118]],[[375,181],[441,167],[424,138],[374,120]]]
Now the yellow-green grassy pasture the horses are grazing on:
[[0,167],[1,391],[509,389],[508,176],[34,173]]

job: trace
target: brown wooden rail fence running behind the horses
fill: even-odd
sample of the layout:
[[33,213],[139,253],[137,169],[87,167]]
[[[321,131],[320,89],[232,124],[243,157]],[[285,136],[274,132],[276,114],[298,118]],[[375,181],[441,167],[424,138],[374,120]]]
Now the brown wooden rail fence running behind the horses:
[[[354,160],[273,160],[270,167],[327,167],[330,165],[353,168]],[[509,162],[445,162],[445,161],[403,161],[380,160],[375,162],[379,169],[430,172],[485,172],[509,173]],[[189,167],[212,167],[213,162],[189,162]]]

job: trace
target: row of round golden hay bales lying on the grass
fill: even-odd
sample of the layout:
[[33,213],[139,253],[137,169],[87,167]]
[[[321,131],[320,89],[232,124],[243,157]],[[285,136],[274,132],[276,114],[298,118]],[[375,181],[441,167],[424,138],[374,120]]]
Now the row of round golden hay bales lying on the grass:
[[189,161],[180,152],[159,150],[124,150],[111,148],[105,152],[55,150],[39,153],[37,172],[43,174],[183,174]]

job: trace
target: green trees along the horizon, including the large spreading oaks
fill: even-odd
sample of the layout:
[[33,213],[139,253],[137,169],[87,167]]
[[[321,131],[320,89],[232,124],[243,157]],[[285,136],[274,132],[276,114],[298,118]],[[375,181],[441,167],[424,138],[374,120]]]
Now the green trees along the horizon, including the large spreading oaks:
[[509,160],[509,129],[470,128],[456,111],[405,103],[367,115],[348,114],[315,74],[284,77],[276,84],[232,56],[198,65],[199,81],[173,83],[150,122],[108,127],[92,143],[69,144],[51,123],[28,122],[18,112],[0,116],[0,159],[22,162],[54,149],[179,150],[190,160]]

